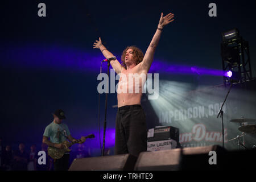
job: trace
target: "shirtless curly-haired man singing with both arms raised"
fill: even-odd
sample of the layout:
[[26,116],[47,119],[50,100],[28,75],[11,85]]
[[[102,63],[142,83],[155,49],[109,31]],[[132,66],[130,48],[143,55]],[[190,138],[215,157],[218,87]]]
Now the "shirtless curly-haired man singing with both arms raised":
[[[141,49],[135,46],[127,47],[122,53],[122,65],[118,60],[110,61],[115,72],[119,75],[125,75],[126,78],[129,78],[129,74],[135,73],[146,75],[153,61],[163,27],[171,23],[174,20],[173,18],[174,14],[172,13],[166,16],[161,13],[158,28],[145,55],[143,56]],[[96,40],[93,48],[100,49],[106,59],[114,56],[102,45],[101,38]],[[127,90],[121,93],[118,92],[122,90],[124,84],[127,84]],[[129,88],[129,81],[123,81],[122,76],[119,79],[117,90],[118,111],[115,119],[115,154],[129,153],[138,156],[140,152],[147,151],[147,126],[144,111],[141,107],[143,84],[143,81],[139,82],[139,93],[130,93],[129,89],[135,91],[135,84]]]

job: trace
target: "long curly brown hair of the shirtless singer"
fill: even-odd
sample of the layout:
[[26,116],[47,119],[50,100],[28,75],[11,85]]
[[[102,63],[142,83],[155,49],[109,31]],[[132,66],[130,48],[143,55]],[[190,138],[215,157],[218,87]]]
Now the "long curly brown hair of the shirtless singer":
[[127,69],[126,64],[125,64],[125,55],[126,55],[126,51],[128,49],[133,49],[133,60],[135,61],[135,64],[139,64],[142,62],[144,54],[142,52],[141,49],[139,49],[136,46],[128,46],[125,48],[125,50],[123,50],[122,56],[121,56],[121,61],[122,61],[122,65],[125,69]]

